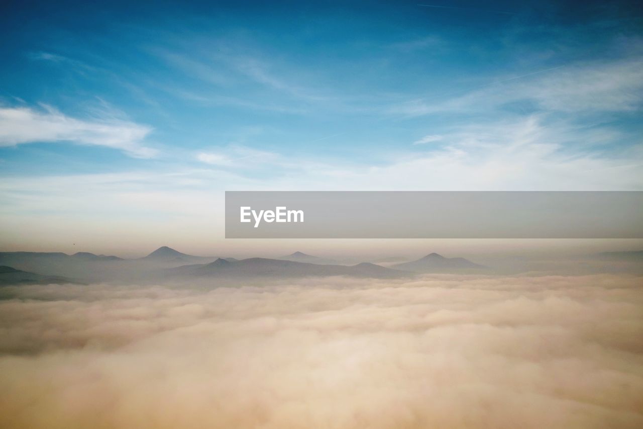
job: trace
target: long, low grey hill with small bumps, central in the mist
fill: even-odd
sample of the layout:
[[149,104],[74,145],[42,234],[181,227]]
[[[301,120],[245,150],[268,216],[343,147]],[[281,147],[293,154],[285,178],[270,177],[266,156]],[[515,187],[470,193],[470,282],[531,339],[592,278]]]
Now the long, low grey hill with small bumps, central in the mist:
[[372,263],[357,265],[321,265],[307,262],[293,262],[266,258],[249,258],[240,261],[224,260],[222,258],[208,264],[184,265],[166,270],[170,276],[177,277],[222,277],[222,278],[252,278],[252,277],[309,277],[309,276],[351,276],[363,278],[396,278],[409,275],[408,272],[398,271]]

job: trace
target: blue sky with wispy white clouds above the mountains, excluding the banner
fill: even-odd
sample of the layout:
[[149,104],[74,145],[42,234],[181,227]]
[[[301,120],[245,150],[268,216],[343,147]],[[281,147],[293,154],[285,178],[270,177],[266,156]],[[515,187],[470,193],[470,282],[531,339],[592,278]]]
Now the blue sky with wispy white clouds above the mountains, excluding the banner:
[[0,250],[240,251],[226,190],[643,190],[637,2],[189,3],[3,2]]

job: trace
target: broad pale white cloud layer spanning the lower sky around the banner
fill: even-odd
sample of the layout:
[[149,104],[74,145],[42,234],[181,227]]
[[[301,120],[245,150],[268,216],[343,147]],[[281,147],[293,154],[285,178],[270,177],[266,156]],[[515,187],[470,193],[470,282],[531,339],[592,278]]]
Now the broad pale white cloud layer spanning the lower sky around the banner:
[[227,146],[190,152],[190,163],[183,159],[181,164],[178,154],[177,164],[162,169],[8,176],[0,180],[0,235],[21,245],[25,237],[37,236],[31,244],[42,246],[47,240],[59,245],[82,236],[93,242],[152,247],[163,229],[166,238],[177,242],[211,246],[203,231],[223,230],[226,190],[643,189],[643,146],[570,150],[568,138],[613,136],[568,126],[538,115],[471,124],[444,133],[431,150],[413,146],[413,151],[391,153],[377,165],[359,158],[323,162],[310,155]]

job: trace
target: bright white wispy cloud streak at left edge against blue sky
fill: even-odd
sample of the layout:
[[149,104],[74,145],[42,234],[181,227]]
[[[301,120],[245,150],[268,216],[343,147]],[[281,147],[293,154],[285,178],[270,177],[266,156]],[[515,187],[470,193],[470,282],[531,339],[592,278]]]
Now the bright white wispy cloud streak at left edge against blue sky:
[[143,145],[152,128],[114,117],[77,119],[50,106],[0,108],[0,146],[71,142],[119,149],[136,158],[156,155]]

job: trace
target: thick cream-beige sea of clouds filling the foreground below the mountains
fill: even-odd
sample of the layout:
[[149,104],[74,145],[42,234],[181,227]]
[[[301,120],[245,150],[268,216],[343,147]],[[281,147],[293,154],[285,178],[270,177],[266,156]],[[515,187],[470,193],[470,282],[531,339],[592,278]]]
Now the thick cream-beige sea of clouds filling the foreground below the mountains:
[[635,276],[0,291],[3,428],[640,428]]

